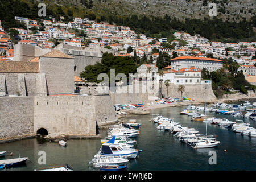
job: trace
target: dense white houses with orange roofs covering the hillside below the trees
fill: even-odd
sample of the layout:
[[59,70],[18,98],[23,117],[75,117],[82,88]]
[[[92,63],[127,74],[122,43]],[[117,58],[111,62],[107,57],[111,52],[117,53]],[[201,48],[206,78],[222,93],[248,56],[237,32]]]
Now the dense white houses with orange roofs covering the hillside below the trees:
[[[150,60],[152,56],[153,63],[158,61],[160,51],[167,53],[170,57],[176,52],[179,57],[170,60],[172,70],[176,71],[190,67],[216,71],[222,67],[223,63],[220,59],[224,58],[232,58],[233,61],[237,61],[241,65],[254,64],[252,57],[255,55],[255,42],[210,42],[200,34],[192,35],[188,32],[174,32],[174,39],[172,40],[170,40],[170,37],[157,39],[147,37],[145,34],[137,35],[130,27],[96,23],[93,20],[80,17],[75,17],[68,23],[63,22],[64,18],[60,18],[56,22],[55,19],[33,20],[18,16],[15,19],[24,22],[27,27],[25,29],[14,28],[19,32],[20,44],[53,48],[55,43],[59,42],[81,49],[84,49],[85,46],[91,48],[108,46],[110,52],[119,56],[134,56],[136,49],[138,57],[142,58],[146,55],[147,59]],[[43,31],[41,29],[42,23],[45,27]],[[32,32],[31,28],[33,27],[36,27],[38,31]],[[172,48],[170,46],[164,47],[166,44],[163,43],[168,42],[168,40]],[[12,46],[10,38],[6,35],[0,22],[0,52],[6,52]],[[127,54],[129,47],[132,48],[132,52]],[[154,53],[152,53],[153,49]]]

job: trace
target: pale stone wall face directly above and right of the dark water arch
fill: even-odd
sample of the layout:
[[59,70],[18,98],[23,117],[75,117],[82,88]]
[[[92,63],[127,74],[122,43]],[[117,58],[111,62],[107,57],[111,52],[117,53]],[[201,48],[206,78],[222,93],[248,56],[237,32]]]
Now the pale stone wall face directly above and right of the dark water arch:
[[65,135],[96,135],[93,96],[36,96],[34,133],[44,128]]

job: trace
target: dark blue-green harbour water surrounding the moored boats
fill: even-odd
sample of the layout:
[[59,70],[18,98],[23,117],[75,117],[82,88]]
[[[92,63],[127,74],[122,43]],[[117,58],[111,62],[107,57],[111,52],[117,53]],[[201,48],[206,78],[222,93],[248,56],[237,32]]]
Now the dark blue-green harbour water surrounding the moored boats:
[[[127,164],[128,170],[256,170],[256,138],[242,136],[233,133],[233,131],[210,125],[207,123],[208,134],[216,134],[217,140],[221,142],[220,146],[208,149],[193,149],[187,144],[179,142],[168,131],[157,130],[156,123],[149,122],[154,114],[163,115],[163,117],[174,118],[183,126],[194,127],[205,134],[205,123],[191,121],[187,115],[180,115],[180,111],[185,107],[167,107],[151,111],[153,115],[134,115],[125,119],[137,119],[142,122],[141,134],[137,137],[137,146],[143,150],[138,159],[130,160]],[[228,115],[207,113],[218,118],[227,118],[235,121]],[[252,127],[256,127],[254,121],[244,119],[250,122]],[[102,138],[105,137],[107,130],[101,130]],[[40,138],[20,140],[17,142],[0,144],[0,151],[13,152],[13,156],[7,155],[1,159],[18,158],[27,156],[29,160],[26,165],[21,167],[9,168],[7,170],[34,170],[45,167],[61,166],[69,164],[74,170],[90,170],[88,162],[101,147],[100,139],[88,140],[68,140],[67,147],[60,147],[58,143],[45,142]],[[224,152],[226,150],[226,152]],[[46,165],[39,165],[39,151],[46,152]],[[210,165],[209,151],[216,151],[217,164]]]

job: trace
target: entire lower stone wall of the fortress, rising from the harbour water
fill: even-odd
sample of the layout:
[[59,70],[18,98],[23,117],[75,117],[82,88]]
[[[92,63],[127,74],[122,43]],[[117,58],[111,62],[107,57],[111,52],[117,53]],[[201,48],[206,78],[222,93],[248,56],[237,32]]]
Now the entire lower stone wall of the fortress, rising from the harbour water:
[[42,128],[95,137],[96,120],[99,126],[118,121],[109,95],[0,97],[0,143],[35,136]]

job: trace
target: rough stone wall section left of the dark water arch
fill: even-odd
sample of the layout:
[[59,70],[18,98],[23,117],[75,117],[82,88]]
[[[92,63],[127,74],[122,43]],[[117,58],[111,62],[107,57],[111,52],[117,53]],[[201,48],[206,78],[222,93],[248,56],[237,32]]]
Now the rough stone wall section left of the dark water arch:
[[34,133],[34,97],[0,97],[0,142]]

